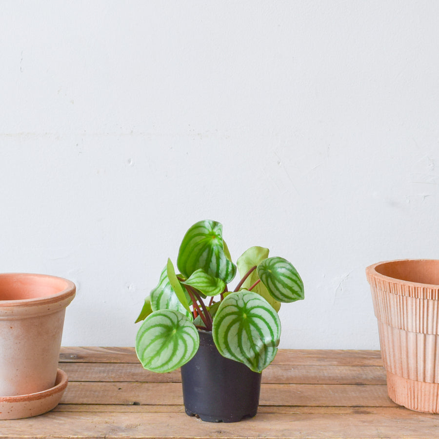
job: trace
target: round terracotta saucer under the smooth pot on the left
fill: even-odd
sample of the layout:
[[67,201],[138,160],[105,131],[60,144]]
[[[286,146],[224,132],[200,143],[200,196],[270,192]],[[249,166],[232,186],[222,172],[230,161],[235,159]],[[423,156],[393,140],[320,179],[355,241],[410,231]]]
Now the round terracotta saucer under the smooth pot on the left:
[[0,397],[0,419],[30,418],[52,410],[60,402],[67,382],[67,374],[58,369],[55,386],[50,389],[29,395]]

